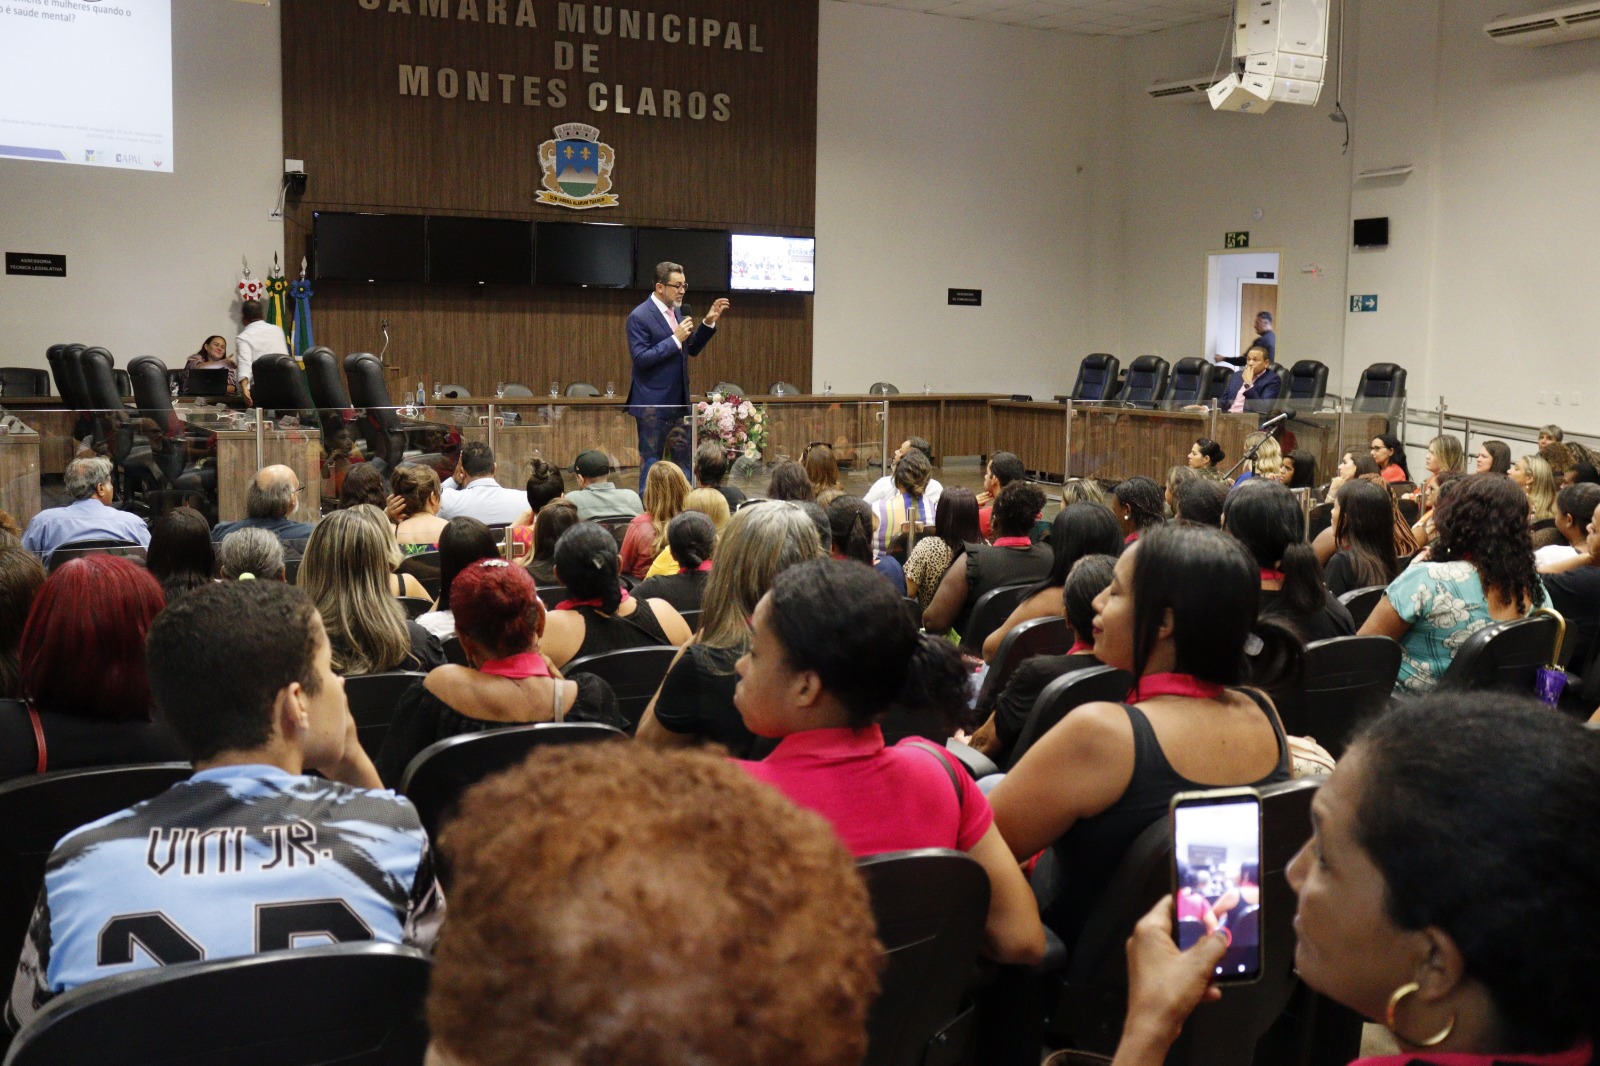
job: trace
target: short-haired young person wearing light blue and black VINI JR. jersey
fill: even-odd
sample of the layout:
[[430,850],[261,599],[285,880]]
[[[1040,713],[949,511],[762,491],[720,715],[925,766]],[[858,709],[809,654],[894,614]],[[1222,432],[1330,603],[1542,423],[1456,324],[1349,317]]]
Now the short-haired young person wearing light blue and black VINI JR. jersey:
[[[432,948],[445,904],[427,834],[406,800],[376,791],[304,594],[274,581],[189,592],[150,626],[149,687],[195,775],[56,845],[8,1024],[104,976],[325,938],[330,917],[338,940]],[[214,876],[194,876],[206,856]],[[285,904],[301,900],[315,904]],[[165,949],[131,951],[152,922]]]

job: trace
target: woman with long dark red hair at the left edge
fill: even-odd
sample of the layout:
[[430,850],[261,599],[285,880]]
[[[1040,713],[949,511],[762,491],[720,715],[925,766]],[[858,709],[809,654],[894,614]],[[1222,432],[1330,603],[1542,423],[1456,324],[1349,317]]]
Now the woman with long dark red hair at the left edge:
[[0,779],[182,759],[150,720],[144,635],[162,607],[155,578],[115,555],[74,559],[38,586],[16,645],[27,706],[0,714]]

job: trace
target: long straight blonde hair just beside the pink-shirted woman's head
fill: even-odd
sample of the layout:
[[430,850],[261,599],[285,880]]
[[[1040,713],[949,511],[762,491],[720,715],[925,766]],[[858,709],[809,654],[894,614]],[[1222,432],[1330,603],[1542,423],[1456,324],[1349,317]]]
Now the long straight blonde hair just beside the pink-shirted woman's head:
[[798,562],[826,557],[816,522],[795,504],[773,499],[739,507],[712,554],[694,643],[742,653],[750,647],[750,615],[773,579]]

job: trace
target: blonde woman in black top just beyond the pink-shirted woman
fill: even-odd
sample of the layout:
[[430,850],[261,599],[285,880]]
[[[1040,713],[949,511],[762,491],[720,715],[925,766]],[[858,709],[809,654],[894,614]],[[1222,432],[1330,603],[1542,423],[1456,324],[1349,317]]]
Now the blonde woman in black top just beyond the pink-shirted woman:
[[766,755],[776,741],[746,728],[733,706],[733,666],[750,650],[750,616],[778,575],[826,554],[800,504],[741,507],[717,544],[699,632],[667,671],[638,739],[658,747],[710,741],[739,759]]

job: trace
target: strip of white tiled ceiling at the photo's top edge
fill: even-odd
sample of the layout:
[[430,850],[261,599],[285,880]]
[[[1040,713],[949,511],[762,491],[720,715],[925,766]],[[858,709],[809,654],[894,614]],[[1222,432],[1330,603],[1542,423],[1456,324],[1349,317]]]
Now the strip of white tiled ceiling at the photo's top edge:
[[1085,37],[1136,37],[1232,14],[1232,0],[846,0]]

